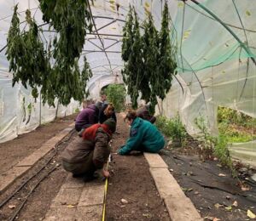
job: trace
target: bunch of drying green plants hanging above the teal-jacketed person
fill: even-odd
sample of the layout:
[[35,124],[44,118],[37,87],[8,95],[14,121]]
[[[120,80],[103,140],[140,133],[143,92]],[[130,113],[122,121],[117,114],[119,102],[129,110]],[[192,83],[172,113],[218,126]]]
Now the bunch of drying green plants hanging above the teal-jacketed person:
[[157,97],[164,99],[172,86],[172,75],[176,74],[177,63],[176,48],[170,38],[172,29],[169,21],[167,4],[160,32],[155,29],[153,16],[147,11],[141,37],[137,14],[130,7],[123,29],[122,59],[125,61],[125,68],[122,74],[133,108],[137,108],[137,98],[141,92],[142,99],[150,102],[149,111],[154,113]]

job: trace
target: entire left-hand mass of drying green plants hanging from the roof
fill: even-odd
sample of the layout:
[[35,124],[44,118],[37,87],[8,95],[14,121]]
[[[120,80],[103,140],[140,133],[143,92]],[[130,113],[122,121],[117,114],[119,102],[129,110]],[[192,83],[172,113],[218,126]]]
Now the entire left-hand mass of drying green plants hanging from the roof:
[[[20,31],[20,20],[15,6],[7,42],[9,71],[13,71],[13,86],[21,82],[32,88],[32,96],[38,97],[41,87],[43,103],[54,105],[55,98],[62,105],[70,99],[83,100],[88,95],[86,83],[92,76],[90,66],[84,58],[84,69],[79,70],[79,56],[84,47],[86,30],[91,30],[88,2],[85,0],[41,0],[43,19],[54,26],[57,35],[54,39],[53,53],[47,53],[41,42],[38,25],[26,10],[28,30]],[[53,66],[49,60],[54,59]]]

